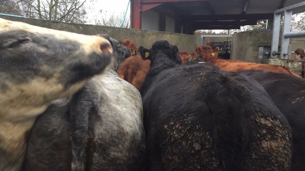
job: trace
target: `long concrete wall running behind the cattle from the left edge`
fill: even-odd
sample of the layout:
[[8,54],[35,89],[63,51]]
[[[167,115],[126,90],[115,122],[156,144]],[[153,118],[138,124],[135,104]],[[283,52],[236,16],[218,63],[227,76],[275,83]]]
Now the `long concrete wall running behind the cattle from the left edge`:
[[109,36],[122,41],[124,39],[132,39],[137,47],[144,46],[150,48],[157,40],[168,40],[170,44],[177,45],[179,50],[185,50],[188,53],[193,52],[197,46],[201,45],[201,39],[197,36],[168,33],[160,31],[144,31],[138,29],[127,29],[118,27],[95,26],[85,24],[73,24],[48,20],[37,20],[29,18],[18,18],[0,16],[1,18],[22,21],[31,25],[47,27],[51,29],[70,31],[85,35],[108,34]]

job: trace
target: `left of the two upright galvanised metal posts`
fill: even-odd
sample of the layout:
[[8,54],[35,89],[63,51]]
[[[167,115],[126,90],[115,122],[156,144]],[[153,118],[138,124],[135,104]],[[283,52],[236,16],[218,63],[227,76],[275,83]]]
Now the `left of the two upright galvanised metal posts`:
[[280,39],[279,37],[280,37],[281,17],[282,17],[282,14],[274,13],[270,58],[277,58],[277,55],[275,55],[273,52],[278,51],[278,40]]

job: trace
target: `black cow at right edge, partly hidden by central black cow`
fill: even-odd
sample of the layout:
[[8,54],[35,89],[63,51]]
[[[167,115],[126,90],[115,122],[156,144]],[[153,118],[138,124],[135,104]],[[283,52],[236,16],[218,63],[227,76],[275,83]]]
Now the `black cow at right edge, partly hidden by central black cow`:
[[241,73],[260,83],[286,116],[292,129],[292,170],[305,170],[305,80],[259,70]]

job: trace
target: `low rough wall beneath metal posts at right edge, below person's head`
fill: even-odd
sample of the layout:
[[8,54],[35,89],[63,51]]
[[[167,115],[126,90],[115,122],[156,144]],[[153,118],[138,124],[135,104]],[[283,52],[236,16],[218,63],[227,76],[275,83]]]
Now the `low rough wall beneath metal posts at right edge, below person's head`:
[[305,61],[300,61],[300,60],[292,60],[292,59],[276,59],[276,58],[270,58],[269,59],[269,64],[274,64],[274,65],[281,65],[281,66],[287,66],[290,68],[291,72],[301,76],[304,76],[304,64]]

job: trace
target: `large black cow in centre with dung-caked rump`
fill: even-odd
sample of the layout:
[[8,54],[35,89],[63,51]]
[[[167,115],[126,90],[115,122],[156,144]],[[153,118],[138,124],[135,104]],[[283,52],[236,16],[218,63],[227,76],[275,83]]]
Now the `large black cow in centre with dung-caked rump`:
[[260,84],[204,63],[177,64],[168,41],[139,51],[151,60],[140,89],[147,170],[290,168],[290,126]]

